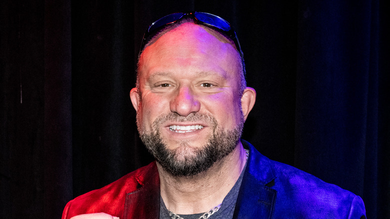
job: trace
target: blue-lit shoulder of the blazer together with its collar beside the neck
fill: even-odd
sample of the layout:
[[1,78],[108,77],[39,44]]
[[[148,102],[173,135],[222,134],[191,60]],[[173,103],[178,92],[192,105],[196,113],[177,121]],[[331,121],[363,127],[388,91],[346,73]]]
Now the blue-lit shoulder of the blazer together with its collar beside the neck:
[[[301,218],[338,218],[365,215],[362,199],[352,192],[290,166],[268,159],[245,142],[253,157],[247,171],[260,183],[276,191],[275,216],[285,212]],[[358,215],[358,216],[357,216]]]

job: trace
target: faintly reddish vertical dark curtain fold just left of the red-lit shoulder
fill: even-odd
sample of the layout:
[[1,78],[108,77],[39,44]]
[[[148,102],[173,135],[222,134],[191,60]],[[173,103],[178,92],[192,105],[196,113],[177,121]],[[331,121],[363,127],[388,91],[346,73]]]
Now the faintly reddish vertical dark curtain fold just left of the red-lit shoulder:
[[63,203],[72,196],[70,21],[69,1],[44,1],[44,140],[40,158],[44,176],[41,216],[44,218],[57,218]]

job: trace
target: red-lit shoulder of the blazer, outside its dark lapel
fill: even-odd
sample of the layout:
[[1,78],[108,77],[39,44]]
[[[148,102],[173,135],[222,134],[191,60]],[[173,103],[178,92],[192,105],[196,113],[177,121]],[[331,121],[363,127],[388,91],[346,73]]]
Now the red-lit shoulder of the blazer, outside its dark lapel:
[[64,208],[62,219],[93,212],[121,216],[126,194],[135,191],[145,183],[149,183],[148,180],[155,179],[155,176],[158,178],[157,168],[155,162],[151,162],[102,188],[89,191],[70,200]]

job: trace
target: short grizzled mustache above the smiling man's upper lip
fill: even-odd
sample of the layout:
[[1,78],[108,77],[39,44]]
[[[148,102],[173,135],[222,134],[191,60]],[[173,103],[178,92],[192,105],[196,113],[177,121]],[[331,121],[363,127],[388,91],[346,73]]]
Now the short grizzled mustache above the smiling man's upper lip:
[[195,122],[203,121],[207,122],[212,126],[217,126],[217,121],[214,116],[209,113],[191,112],[187,116],[181,116],[175,112],[169,112],[160,114],[153,122],[154,127],[158,127],[159,124],[164,122]]

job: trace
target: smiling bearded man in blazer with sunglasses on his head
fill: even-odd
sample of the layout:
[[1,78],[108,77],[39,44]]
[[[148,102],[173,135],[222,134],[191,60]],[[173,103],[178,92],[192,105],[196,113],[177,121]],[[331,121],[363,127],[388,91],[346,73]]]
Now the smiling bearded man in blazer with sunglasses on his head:
[[238,39],[220,17],[154,22],[130,98],[156,161],[69,201],[62,218],[365,218],[359,196],[240,139],[256,95],[244,74]]

